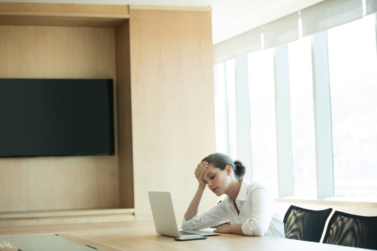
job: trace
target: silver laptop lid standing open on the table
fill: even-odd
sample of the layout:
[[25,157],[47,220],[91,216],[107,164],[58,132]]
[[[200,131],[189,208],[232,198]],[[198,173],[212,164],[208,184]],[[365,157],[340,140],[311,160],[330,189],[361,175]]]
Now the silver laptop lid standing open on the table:
[[170,192],[148,192],[157,234],[179,237]]

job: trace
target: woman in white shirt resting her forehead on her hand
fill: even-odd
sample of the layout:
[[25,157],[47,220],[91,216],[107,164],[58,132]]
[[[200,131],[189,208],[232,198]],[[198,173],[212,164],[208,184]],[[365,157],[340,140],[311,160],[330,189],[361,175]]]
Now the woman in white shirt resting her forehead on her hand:
[[[246,181],[245,172],[242,162],[233,162],[228,155],[213,153],[204,158],[195,169],[198,190],[184,215],[182,229],[203,229],[230,222],[214,232],[284,238],[284,224],[274,198],[262,185]],[[209,211],[198,214],[206,185],[215,195],[227,197]]]

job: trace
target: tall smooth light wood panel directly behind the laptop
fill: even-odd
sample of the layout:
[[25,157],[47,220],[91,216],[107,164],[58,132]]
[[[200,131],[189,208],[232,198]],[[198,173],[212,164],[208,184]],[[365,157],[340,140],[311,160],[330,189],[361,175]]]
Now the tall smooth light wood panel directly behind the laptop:
[[[211,13],[131,6],[130,38],[135,216],[151,215],[147,191],[167,190],[180,217],[216,147]],[[207,190],[201,208],[216,199]]]

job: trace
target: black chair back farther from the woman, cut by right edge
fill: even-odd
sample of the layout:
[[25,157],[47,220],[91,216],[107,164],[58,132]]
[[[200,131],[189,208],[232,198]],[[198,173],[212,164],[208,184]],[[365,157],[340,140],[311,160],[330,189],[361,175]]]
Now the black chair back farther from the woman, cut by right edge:
[[377,216],[335,211],[323,243],[377,250]]

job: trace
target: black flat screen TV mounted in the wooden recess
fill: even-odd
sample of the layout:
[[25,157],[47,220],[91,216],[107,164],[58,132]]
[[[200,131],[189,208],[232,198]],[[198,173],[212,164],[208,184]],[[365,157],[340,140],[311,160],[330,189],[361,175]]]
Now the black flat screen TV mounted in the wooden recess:
[[0,79],[0,157],[112,154],[112,79]]

